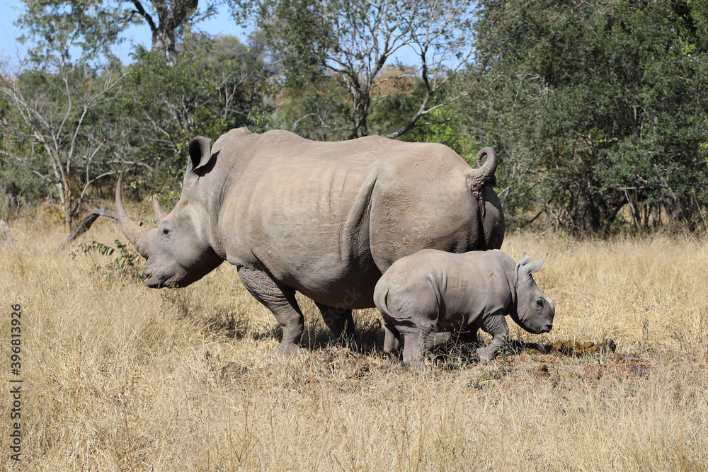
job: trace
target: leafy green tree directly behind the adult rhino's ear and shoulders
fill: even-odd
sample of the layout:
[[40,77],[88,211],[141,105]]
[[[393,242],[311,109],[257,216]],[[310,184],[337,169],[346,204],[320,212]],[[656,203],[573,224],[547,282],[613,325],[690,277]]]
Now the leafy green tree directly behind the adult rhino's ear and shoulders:
[[229,36],[189,35],[179,49],[173,62],[138,48],[125,98],[115,103],[127,145],[158,174],[157,194],[178,188],[190,139],[216,139],[242,126],[262,132],[272,113],[263,100],[268,70],[257,47]]

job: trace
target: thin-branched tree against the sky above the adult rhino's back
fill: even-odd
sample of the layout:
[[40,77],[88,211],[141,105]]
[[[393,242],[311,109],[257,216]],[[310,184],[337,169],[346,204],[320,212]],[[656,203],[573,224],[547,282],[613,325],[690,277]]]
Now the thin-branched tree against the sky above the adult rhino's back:
[[[280,65],[288,98],[304,103],[292,127],[309,117],[338,127],[329,133],[332,137],[370,134],[372,113],[386,98],[377,90],[389,81],[415,77],[424,93],[407,119],[384,134],[395,138],[409,132],[421,117],[457,98],[432,105],[450,69],[464,64],[471,52],[467,1],[232,0],[232,6],[255,17]],[[416,67],[382,74],[392,57],[404,51],[417,58]],[[338,106],[323,107],[323,100],[311,106],[313,98],[336,87],[345,98]],[[339,117],[331,120],[334,113]]]

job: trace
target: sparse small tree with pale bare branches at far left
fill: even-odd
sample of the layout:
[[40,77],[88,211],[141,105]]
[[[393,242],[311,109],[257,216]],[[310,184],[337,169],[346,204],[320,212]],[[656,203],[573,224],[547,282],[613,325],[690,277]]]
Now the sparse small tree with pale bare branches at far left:
[[[8,106],[0,155],[55,190],[69,231],[92,186],[129,163],[125,149],[116,146],[117,122],[108,116],[124,73],[120,67],[96,70],[59,59],[54,64],[51,72],[6,74],[0,84],[0,100]],[[3,186],[17,187],[18,181]]]

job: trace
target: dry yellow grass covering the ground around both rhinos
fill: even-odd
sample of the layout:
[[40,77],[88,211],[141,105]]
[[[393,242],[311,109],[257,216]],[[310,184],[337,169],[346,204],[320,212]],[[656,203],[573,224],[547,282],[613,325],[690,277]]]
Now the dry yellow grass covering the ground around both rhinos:
[[[54,251],[41,220],[0,248],[0,390],[11,304],[22,318],[22,464],[0,398],[0,469],[26,471],[707,470],[708,240],[614,242],[509,234],[537,274],[554,330],[527,342],[603,340],[617,354],[509,356],[452,349],[422,374],[384,367],[375,310],[355,313],[370,352],[328,347],[272,358],[275,319],[227,265],[154,290],[97,271],[115,259]],[[84,236],[115,246],[117,224]],[[80,242],[80,241],[79,241]],[[75,247],[75,246],[74,246]],[[513,322],[511,322],[513,324]]]

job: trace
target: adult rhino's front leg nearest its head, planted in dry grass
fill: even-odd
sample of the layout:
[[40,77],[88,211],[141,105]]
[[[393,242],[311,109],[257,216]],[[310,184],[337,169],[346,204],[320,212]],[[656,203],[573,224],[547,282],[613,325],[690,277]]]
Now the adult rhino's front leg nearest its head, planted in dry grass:
[[251,295],[273,312],[282,328],[280,347],[270,354],[306,353],[300,347],[304,332],[304,317],[295,299],[295,289],[274,280],[268,272],[239,267],[239,278]]

